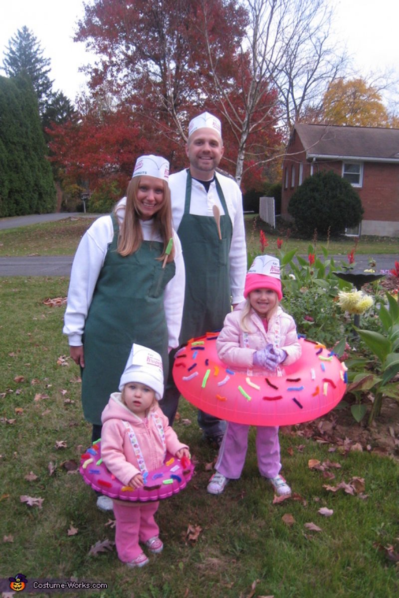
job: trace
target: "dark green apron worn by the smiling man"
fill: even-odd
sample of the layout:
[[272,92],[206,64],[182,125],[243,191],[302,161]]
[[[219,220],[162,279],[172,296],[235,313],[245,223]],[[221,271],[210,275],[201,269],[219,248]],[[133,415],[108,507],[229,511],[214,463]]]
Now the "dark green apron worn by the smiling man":
[[186,270],[185,303],[180,343],[205,332],[220,330],[231,310],[229,251],[233,227],[222,187],[216,190],[225,212],[220,216],[222,240],[213,216],[190,213],[191,174],[187,171],[185,209],[177,234]]

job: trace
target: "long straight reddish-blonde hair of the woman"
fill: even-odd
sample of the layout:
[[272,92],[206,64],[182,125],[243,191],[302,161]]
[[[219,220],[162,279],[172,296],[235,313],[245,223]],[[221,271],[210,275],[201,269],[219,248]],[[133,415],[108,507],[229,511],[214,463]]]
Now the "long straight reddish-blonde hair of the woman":
[[[121,226],[119,227],[118,236],[118,254],[125,257],[126,255],[134,254],[143,242],[143,232],[140,225],[140,210],[137,202],[137,189],[139,188],[141,176],[134,176],[127,185],[126,191],[126,206],[125,216]],[[165,251],[169,240],[173,237],[172,228],[172,209],[170,202],[170,189],[166,181],[161,181],[164,188],[164,199],[161,203],[161,208],[154,214],[152,221],[152,230],[154,233],[159,233],[162,242],[164,243],[164,251],[157,260],[165,258]],[[122,207],[119,210],[123,209]],[[116,216],[118,216],[118,206],[115,208]],[[174,246],[167,257],[167,262],[174,259]]]

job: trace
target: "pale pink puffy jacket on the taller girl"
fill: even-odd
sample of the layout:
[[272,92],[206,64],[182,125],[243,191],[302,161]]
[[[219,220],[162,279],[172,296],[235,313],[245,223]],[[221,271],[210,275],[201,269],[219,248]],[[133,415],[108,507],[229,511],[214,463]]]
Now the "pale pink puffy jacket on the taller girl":
[[[299,359],[301,348],[294,319],[278,306],[268,323],[266,332],[262,319],[251,309],[246,319],[248,332],[244,332],[241,316],[245,303],[243,301],[238,304],[234,312],[228,313],[225,318],[223,328],[216,340],[219,359],[236,370],[252,369],[254,352],[264,349],[268,343],[286,351],[287,358],[284,365],[290,365]],[[254,376],[264,375],[265,370],[254,368],[252,373]],[[278,366],[277,375],[281,376],[282,373],[282,368]]]

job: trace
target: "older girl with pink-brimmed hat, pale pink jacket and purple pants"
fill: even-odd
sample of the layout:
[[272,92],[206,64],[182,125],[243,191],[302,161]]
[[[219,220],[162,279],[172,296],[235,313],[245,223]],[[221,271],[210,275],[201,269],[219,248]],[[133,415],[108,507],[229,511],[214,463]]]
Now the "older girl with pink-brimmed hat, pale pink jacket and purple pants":
[[[255,258],[245,278],[245,301],[229,313],[216,341],[219,358],[247,376],[265,376],[265,370],[283,375],[284,364],[300,357],[296,325],[280,307],[283,297],[280,262],[271,255]],[[216,473],[208,484],[210,494],[220,494],[229,480],[238,480],[247,453],[249,426],[228,422]],[[277,495],[291,489],[280,475],[277,426],[256,426],[256,454],[260,474],[268,478]]]

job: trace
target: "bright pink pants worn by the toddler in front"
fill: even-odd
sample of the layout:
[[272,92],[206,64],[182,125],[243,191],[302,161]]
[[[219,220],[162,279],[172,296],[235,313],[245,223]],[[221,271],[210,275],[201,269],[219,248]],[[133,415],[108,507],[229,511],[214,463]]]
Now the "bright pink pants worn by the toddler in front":
[[136,559],[143,552],[139,542],[158,536],[159,527],[154,519],[158,507],[159,501],[113,501],[116,551],[124,563]]

